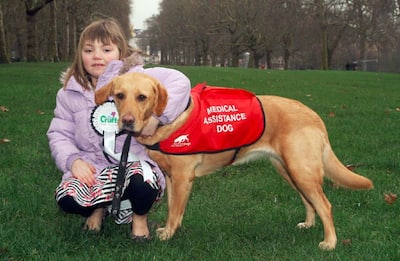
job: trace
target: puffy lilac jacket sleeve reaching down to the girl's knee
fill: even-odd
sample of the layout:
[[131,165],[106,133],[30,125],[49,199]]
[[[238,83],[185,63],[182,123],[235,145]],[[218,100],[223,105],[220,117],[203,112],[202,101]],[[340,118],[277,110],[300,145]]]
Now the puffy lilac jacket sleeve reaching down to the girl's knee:
[[80,157],[74,138],[73,112],[68,106],[68,100],[73,101],[73,97],[67,96],[68,91],[58,91],[54,118],[47,131],[51,155],[57,168],[64,173],[71,170],[72,163]]

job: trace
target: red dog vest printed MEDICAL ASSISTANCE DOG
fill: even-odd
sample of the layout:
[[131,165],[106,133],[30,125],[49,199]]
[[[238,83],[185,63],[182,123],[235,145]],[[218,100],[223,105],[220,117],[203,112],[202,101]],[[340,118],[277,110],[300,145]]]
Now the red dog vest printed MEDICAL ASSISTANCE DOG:
[[246,90],[196,85],[187,122],[159,143],[168,154],[215,153],[256,142],[265,129],[263,109]]

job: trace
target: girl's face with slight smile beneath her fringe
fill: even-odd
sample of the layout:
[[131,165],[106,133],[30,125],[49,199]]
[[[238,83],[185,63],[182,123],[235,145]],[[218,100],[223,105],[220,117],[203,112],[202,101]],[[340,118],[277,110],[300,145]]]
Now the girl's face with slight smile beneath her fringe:
[[95,40],[93,42],[86,41],[83,45],[83,67],[92,76],[93,86],[96,86],[97,79],[104,73],[108,63],[119,58],[119,49],[111,42],[103,44],[99,40]]

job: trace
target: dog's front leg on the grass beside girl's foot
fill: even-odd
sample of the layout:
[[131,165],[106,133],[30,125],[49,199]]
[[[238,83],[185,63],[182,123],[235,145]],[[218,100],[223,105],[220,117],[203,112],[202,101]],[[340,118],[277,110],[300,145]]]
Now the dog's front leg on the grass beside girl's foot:
[[157,229],[160,240],[172,238],[181,226],[192,185],[193,178],[188,175],[171,175],[168,177],[168,219],[165,227]]

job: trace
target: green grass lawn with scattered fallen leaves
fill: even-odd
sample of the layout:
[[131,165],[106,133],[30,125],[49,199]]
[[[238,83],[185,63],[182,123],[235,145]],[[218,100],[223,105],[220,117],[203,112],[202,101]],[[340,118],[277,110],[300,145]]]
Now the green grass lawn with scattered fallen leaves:
[[[340,71],[261,71],[178,67],[192,83],[232,86],[298,99],[326,122],[345,164],[374,181],[372,191],[325,192],[333,206],[338,245],[317,247],[319,219],[307,231],[297,194],[267,162],[228,167],[199,178],[183,227],[168,242],[129,240],[129,225],[107,219],[99,234],[81,231],[84,220],[61,213],[54,189],[61,173],[50,157],[46,131],[58,76],[67,64],[0,65],[1,260],[396,260],[400,256],[400,75]],[[166,219],[165,200],[150,221]],[[154,237],[154,230],[152,231]],[[343,242],[351,241],[351,244]]]

